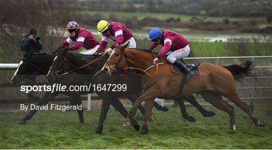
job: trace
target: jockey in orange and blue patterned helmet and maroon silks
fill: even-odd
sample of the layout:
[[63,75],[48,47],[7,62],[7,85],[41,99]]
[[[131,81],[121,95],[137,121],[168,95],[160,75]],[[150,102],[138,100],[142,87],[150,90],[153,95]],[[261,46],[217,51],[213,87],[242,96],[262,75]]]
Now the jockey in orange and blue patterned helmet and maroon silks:
[[80,52],[82,54],[93,54],[96,52],[99,42],[90,31],[81,28],[75,21],[69,22],[65,29],[70,33],[70,36],[60,44],[61,47],[68,46],[73,41],[76,41],[76,44],[70,46],[69,50],[78,50],[83,46],[85,50]]

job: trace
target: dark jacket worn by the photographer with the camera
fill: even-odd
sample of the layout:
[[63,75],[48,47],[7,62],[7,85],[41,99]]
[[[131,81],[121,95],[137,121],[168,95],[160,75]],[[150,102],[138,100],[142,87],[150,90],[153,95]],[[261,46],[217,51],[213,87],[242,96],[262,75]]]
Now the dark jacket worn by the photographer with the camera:
[[29,35],[23,37],[21,41],[21,50],[25,52],[33,51],[33,53],[39,53],[40,50],[43,48],[41,41],[39,40],[38,42],[34,42],[28,37]]

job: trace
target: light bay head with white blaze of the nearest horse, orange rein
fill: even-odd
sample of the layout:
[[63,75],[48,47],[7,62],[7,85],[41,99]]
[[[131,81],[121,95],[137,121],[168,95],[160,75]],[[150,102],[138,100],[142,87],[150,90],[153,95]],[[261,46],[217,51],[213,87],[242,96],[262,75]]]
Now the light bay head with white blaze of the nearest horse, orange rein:
[[109,76],[111,73],[116,71],[118,68],[122,68],[127,64],[126,56],[124,54],[124,49],[128,46],[129,43],[125,43],[116,47],[113,52],[110,54],[109,59],[106,61],[102,70],[104,73]]

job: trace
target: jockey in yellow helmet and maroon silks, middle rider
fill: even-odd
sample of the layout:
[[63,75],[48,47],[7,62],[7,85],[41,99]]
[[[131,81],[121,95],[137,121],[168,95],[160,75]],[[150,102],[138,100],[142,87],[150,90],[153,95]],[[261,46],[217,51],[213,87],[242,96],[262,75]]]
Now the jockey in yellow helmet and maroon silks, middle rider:
[[109,53],[115,47],[129,42],[128,47],[136,48],[136,42],[133,38],[133,34],[125,27],[125,25],[118,22],[107,22],[101,20],[97,24],[98,33],[102,33],[101,43],[97,49],[97,53],[102,52],[109,42],[109,39],[112,39],[114,42],[110,48],[105,50],[105,53]]

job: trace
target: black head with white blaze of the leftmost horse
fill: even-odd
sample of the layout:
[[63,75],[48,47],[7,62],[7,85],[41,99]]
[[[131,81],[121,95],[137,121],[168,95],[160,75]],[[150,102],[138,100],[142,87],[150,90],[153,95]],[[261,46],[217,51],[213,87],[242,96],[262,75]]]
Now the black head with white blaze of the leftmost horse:
[[34,68],[31,67],[31,59],[33,52],[25,53],[22,60],[19,62],[17,70],[15,71],[11,81],[13,84],[20,83],[27,75],[34,73]]

